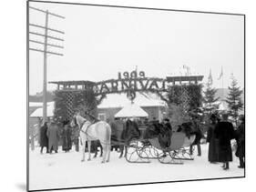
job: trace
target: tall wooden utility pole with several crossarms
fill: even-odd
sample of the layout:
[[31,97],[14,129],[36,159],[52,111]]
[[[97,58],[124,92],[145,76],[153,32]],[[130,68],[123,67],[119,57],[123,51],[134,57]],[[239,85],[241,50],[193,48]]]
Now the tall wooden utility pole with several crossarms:
[[58,34],[62,34],[64,35],[65,33],[53,28],[48,27],[48,19],[49,19],[49,15],[51,16],[56,16],[58,18],[62,18],[64,19],[65,17],[62,15],[56,15],[54,13],[49,12],[48,10],[42,10],[42,9],[38,9],[32,6],[29,6],[30,9],[36,10],[40,13],[43,13],[46,15],[46,23],[45,25],[36,25],[36,24],[29,24],[29,26],[33,26],[36,28],[42,28],[45,30],[45,34],[40,34],[40,33],[36,33],[36,32],[32,32],[29,30],[29,34],[30,35],[36,35],[36,36],[43,36],[44,37],[44,42],[41,41],[37,41],[37,40],[33,40],[29,38],[29,42],[32,42],[34,44],[39,44],[39,45],[44,45],[43,49],[37,49],[37,48],[33,48],[29,46],[29,50],[32,51],[37,51],[37,52],[41,52],[44,54],[44,80],[43,80],[43,124],[47,121],[47,100],[46,100],[46,95],[47,95],[47,55],[56,55],[56,56],[63,56],[63,54],[59,54],[56,52],[52,52],[52,51],[48,51],[48,46],[51,47],[55,47],[55,48],[64,48],[64,46],[62,45],[55,45],[55,44],[49,44],[48,40],[54,40],[54,41],[64,41],[63,38],[58,38],[52,35],[48,35],[48,31],[52,31]]

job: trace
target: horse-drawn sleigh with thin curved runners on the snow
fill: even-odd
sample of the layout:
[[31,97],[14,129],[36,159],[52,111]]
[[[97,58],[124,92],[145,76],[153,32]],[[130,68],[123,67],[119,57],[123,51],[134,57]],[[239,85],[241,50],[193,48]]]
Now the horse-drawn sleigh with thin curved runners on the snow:
[[169,147],[161,147],[159,137],[134,139],[129,145],[126,159],[129,163],[149,163],[158,159],[162,164],[183,164],[183,160],[193,160],[189,147],[195,136],[186,136],[183,132],[174,132]]

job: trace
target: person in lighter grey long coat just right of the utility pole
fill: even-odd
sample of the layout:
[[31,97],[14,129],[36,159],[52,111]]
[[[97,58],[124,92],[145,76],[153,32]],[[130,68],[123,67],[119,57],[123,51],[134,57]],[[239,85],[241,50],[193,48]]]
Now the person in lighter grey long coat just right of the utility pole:
[[50,124],[50,126],[47,129],[47,136],[49,139],[50,154],[52,153],[52,150],[54,150],[57,153],[59,133],[58,133],[58,127],[56,123],[53,122]]

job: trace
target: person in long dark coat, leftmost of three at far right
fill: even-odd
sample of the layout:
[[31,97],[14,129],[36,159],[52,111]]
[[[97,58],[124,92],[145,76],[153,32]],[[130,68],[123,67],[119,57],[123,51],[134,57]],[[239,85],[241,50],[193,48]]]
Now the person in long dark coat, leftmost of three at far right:
[[214,134],[215,126],[217,125],[217,116],[212,114],[210,116],[210,124],[207,131],[206,142],[209,143],[208,160],[210,163],[218,162],[218,139]]

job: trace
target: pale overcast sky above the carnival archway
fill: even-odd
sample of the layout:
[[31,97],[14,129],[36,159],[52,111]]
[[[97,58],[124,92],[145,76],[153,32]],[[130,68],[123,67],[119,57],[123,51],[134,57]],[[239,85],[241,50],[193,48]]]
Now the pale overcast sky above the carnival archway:
[[[91,80],[117,78],[118,72],[145,71],[146,76],[184,75],[182,66],[190,67],[191,75],[203,75],[205,83],[210,69],[213,86],[223,66],[224,87],[230,85],[233,74],[239,86],[244,84],[244,30],[241,15],[216,15],[160,10],[61,5],[30,2],[31,6],[48,9],[66,16],[49,17],[49,27],[65,31],[59,36],[64,49],[49,50],[64,56],[48,56],[48,81]],[[30,23],[44,25],[45,15],[30,10]],[[44,33],[30,26],[30,31]],[[30,39],[43,38],[30,35]],[[43,49],[34,43],[30,47]],[[43,87],[43,54],[30,51],[29,93]],[[48,85],[53,90],[56,86]]]

